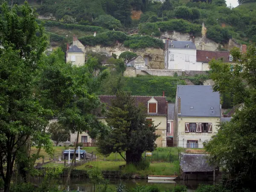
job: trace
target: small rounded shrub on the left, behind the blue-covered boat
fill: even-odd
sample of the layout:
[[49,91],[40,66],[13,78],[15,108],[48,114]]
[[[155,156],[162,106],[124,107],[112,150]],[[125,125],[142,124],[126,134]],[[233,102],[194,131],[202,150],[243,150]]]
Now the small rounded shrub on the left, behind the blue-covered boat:
[[56,143],[56,146],[58,146],[58,143],[65,142],[70,138],[70,132],[62,127],[58,122],[50,123],[48,131],[50,133],[51,140]]

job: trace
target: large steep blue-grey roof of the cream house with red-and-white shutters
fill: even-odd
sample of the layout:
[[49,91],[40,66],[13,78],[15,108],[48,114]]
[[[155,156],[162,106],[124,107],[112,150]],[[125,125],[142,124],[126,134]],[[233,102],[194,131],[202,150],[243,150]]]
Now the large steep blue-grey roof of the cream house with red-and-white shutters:
[[181,110],[178,116],[221,116],[220,94],[210,85],[177,85],[177,97]]

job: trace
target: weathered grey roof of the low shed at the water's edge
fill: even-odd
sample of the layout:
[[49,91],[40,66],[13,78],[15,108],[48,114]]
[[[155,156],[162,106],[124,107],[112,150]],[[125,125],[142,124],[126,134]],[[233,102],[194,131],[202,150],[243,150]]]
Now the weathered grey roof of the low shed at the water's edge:
[[212,172],[214,166],[207,162],[207,154],[183,154],[180,166],[183,172]]

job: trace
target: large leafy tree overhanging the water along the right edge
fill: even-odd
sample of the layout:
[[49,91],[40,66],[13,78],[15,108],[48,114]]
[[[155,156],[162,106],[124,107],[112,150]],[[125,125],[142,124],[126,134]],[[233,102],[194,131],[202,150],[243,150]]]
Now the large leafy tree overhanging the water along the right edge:
[[231,191],[248,188],[255,190],[256,172],[256,48],[250,46],[242,54],[238,48],[231,50],[231,64],[221,60],[209,62],[210,77],[215,82],[214,91],[233,93],[233,105],[240,105],[230,122],[221,123],[206,151],[210,162],[224,170],[223,184]]

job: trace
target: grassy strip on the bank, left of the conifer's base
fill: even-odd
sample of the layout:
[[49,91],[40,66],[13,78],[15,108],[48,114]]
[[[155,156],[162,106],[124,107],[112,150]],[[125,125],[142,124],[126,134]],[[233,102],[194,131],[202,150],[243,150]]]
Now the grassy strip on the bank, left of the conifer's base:
[[114,161],[91,161],[81,166],[77,166],[76,169],[90,169],[89,166],[99,167],[102,171],[118,171],[119,166],[125,165],[125,162]]

